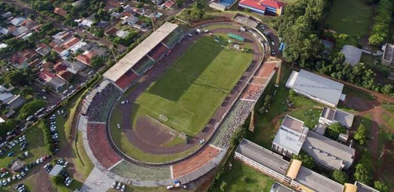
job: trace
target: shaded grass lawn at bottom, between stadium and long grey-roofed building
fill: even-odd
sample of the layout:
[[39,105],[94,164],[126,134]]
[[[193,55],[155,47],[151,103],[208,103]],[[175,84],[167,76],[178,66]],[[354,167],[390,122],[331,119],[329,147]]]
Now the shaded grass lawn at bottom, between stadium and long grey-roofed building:
[[[229,162],[223,165],[224,173],[220,179],[213,185],[212,191],[220,191],[220,184],[224,181],[227,183],[225,191],[269,191],[274,180],[256,171],[245,164],[236,161],[230,155]],[[229,163],[232,164],[231,170]],[[244,181],[246,179],[246,182]]]

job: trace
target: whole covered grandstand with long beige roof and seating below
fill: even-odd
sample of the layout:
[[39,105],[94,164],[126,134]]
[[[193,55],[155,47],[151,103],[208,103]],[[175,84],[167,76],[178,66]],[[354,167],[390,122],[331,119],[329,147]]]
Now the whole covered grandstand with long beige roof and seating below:
[[122,90],[130,87],[181,38],[178,25],[166,22],[106,71],[104,78]]

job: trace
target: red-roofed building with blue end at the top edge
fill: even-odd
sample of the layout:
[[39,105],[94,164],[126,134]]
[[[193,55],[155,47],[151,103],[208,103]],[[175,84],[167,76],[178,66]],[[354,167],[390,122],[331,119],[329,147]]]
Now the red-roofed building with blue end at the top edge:
[[278,0],[241,0],[238,6],[263,15],[282,15],[285,4]]

